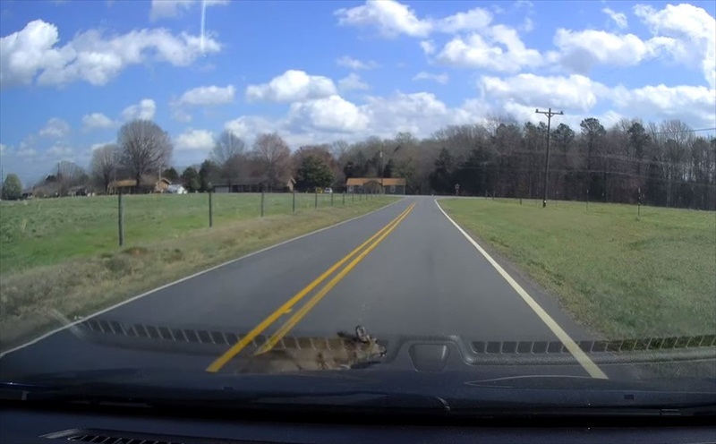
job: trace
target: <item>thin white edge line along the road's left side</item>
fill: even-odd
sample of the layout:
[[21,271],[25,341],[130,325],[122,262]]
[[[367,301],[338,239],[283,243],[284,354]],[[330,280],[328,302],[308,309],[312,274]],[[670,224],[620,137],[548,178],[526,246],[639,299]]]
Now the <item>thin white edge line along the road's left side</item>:
[[331,229],[331,228],[335,228],[336,226],[341,226],[341,225],[343,225],[343,224],[347,224],[348,222],[353,222],[354,220],[357,220],[357,219],[360,219],[360,218],[365,218],[365,217],[367,217],[367,216],[370,216],[370,215],[373,214],[373,213],[377,213],[377,212],[380,211],[381,209],[387,209],[388,207],[392,207],[393,205],[396,205],[397,203],[400,203],[400,202],[402,202],[402,201],[405,201],[405,197],[404,197],[403,199],[399,199],[399,200],[397,200],[397,201],[395,201],[395,202],[388,203],[388,205],[384,205],[384,206],[380,207],[379,209],[373,209],[371,212],[362,214],[362,215],[360,215],[360,216],[356,216],[356,217],[354,217],[354,218],[349,218],[349,219],[343,220],[343,221],[341,221],[341,222],[337,222],[336,224],[333,224],[333,225],[331,225],[331,226],[324,226],[323,228],[319,228],[319,229],[317,229],[317,230],[311,231],[311,233],[306,233],[306,234],[304,234],[304,235],[299,235],[299,236],[296,236],[296,237],[292,237],[291,239],[286,239],[286,241],[282,241],[282,242],[279,242],[279,243],[275,243],[275,244],[273,244],[273,245],[269,245],[268,247],[262,248],[262,249],[260,249],[260,250],[257,250],[256,252],[250,252],[250,253],[248,253],[248,254],[243,255],[243,256],[240,257],[240,258],[236,258],[236,259],[232,259],[232,260],[227,260],[226,262],[223,262],[223,263],[220,263],[220,264],[218,264],[218,265],[215,265],[215,266],[213,266],[213,267],[211,267],[211,268],[209,268],[209,269],[202,269],[201,271],[196,272],[196,273],[194,273],[194,274],[192,274],[192,275],[190,275],[190,276],[182,277],[181,279],[177,279],[177,280],[175,280],[175,281],[173,281],[173,282],[170,282],[170,283],[168,283],[168,284],[165,284],[165,285],[163,285],[163,286],[158,286],[157,288],[153,288],[153,289],[149,290],[148,292],[142,293],[141,295],[132,296],[132,297],[129,298],[129,299],[125,299],[125,300],[122,301],[121,303],[115,303],[114,305],[111,305],[111,306],[109,306],[109,307],[107,307],[107,308],[105,308],[105,309],[102,309],[102,310],[100,310],[99,312],[94,312],[94,313],[92,313],[92,314],[90,314],[90,315],[87,315],[87,316],[83,317],[83,318],[80,319],[80,320],[74,320],[74,321],[72,321],[72,322],[70,322],[70,323],[64,324],[62,327],[58,327],[58,328],[56,328],[56,329],[50,330],[50,331],[48,331],[47,333],[45,333],[44,335],[41,335],[41,336],[39,336],[39,337],[35,337],[34,339],[32,339],[32,340],[30,340],[30,341],[28,341],[28,342],[26,342],[26,343],[24,343],[24,344],[21,344],[20,346],[14,346],[13,348],[11,348],[11,349],[9,349],[9,350],[6,350],[6,351],[0,353],[0,359],[4,358],[4,356],[5,356],[6,354],[11,354],[11,353],[17,352],[18,350],[21,350],[22,348],[25,348],[25,347],[27,347],[27,346],[33,346],[33,345],[37,344],[39,341],[41,341],[41,340],[43,340],[43,339],[47,339],[47,337],[51,337],[51,336],[54,335],[55,333],[59,333],[60,331],[62,331],[62,330],[64,330],[64,329],[70,329],[70,328],[74,327],[75,325],[77,325],[77,324],[79,324],[79,323],[81,323],[81,322],[84,322],[85,320],[89,320],[89,319],[91,319],[91,318],[94,318],[94,317],[96,317],[96,316],[99,316],[100,314],[104,314],[104,313],[106,313],[106,312],[110,312],[110,311],[112,311],[112,310],[115,310],[115,308],[121,307],[122,305],[127,304],[127,303],[132,303],[132,302],[136,301],[137,299],[140,299],[140,298],[142,298],[142,297],[144,297],[144,296],[151,295],[152,293],[157,293],[158,291],[164,290],[165,288],[168,288],[168,287],[170,287],[170,286],[175,286],[175,285],[177,285],[177,284],[181,284],[181,283],[184,282],[184,281],[193,279],[194,277],[201,276],[201,275],[203,275],[204,273],[209,273],[209,271],[214,271],[215,269],[220,269],[220,268],[222,268],[222,267],[226,267],[226,265],[233,264],[233,263],[238,262],[238,261],[240,261],[240,260],[248,259],[248,258],[250,258],[251,256],[255,256],[255,255],[260,254],[260,253],[262,253],[262,252],[268,252],[268,250],[271,250],[271,249],[280,247],[280,246],[282,246],[282,245],[286,245],[286,243],[292,243],[292,242],[294,242],[294,241],[298,241],[299,239],[303,239],[304,237],[308,237],[308,236],[310,236],[310,235],[317,235],[317,234],[319,234],[319,233],[322,232],[322,231],[326,231],[326,230],[329,230],[329,229]]

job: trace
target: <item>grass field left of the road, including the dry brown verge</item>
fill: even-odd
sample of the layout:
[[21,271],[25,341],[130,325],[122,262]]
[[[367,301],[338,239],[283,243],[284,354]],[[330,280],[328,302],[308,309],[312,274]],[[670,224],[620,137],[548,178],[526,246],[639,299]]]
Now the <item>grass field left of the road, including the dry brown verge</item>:
[[126,244],[117,246],[116,198],[2,202],[0,349],[200,269],[354,218],[396,201],[373,197],[214,195],[125,196]]

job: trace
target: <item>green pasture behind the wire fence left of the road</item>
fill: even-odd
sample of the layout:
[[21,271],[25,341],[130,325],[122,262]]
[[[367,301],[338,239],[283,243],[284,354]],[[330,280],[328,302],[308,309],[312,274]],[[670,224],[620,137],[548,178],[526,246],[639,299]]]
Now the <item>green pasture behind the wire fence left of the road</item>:
[[[319,208],[330,206],[320,194]],[[126,243],[142,244],[181,238],[209,225],[208,194],[128,195],[124,199]],[[291,214],[292,195],[265,194],[266,216]],[[214,226],[260,216],[260,194],[214,194]],[[314,209],[314,194],[297,193],[296,210]],[[346,205],[359,204],[358,196]],[[334,195],[343,205],[343,195]],[[0,275],[52,265],[67,259],[113,252],[118,246],[116,196],[0,202]]]

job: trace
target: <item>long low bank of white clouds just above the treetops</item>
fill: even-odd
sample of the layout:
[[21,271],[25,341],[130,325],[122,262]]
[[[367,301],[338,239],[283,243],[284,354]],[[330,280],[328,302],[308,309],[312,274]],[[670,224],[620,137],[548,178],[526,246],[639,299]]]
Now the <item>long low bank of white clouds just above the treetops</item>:
[[428,92],[369,96],[362,105],[333,96],[296,102],[287,115],[272,120],[242,116],[226,122],[225,129],[246,141],[260,132],[278,132],[291,146],[300,146],[337,139],[359,141],[370,135],[391,137],[396,132],[427,137],[450,124],[480,123],[490,114],[514,115],[519,122],[536,124],[544,116],[535,114],[535,107],[563,110],[565,115],[558,117],[558,123],[575,129],[590,116],[605,126],[616,124],[622,117],[657,122],[682,118],[696,126],[712,126],[708,119],[716,119],[716,91],[703,87],[660,85],[627,90],[579,74],[482,76],[478,87],[478,97],[453,107]]

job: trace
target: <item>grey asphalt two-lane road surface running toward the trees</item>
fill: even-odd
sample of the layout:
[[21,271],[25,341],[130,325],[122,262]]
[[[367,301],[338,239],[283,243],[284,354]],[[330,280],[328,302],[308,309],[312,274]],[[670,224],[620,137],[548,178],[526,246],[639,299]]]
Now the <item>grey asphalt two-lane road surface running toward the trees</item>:
[[[364,247],[370,252],[361,260],[353,264],[356,256],[345,260],[290,309],[277,312],[282,304],[401,214],[405,217],[392,230],[383,231],[381,241]],[[181,346],[167,346],[172,341],[153,338],[151,332],[148,337],[138,338],[63,329],[4,354],[0,358],[0,375],[138,366],[204,370],[235,347],[235,337],[226,336],[226,332],[246,334],[274,314],[276,320],[268,322],[257,339],[264,340],[301,312],[329,282],[335,285],[296,322],[289,336],[330,337],[360,324],[379,339],[456,335],[466,343],[564,343],[564,336],[555,334],[557,325],[575,341],[592,338],[549,295],[542,294],[516,270],[509,266],[505,269],[549,314],[551,327],[448,220],[434,198],[409,197],[362,218],[166,286],[93,319],[106,321],[104,325],[112,321],[115,325],[208,332],[205,335],[220,332],[222,340],[204,337],[184,341],[186,344]],[[341,270],[345,276],[335,279]],[[577,362],[577,356],[563,355],[567,357],[561,365],[499,368],[510,374],[537,371],[590,375]],[[234,357],[227,359],[220,371],[231,368]],[[620,371],[606,373],[613,377]]]

